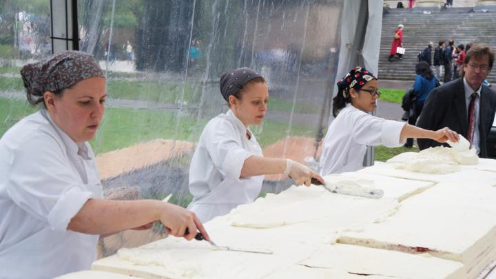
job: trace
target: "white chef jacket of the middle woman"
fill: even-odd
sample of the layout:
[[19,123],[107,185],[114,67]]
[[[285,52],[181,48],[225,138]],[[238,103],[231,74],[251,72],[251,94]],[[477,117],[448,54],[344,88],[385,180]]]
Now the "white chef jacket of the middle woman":
[[252,203],[260,194],[264,176],[240,178],[245,160],[262,156],[255,136],[248,139],[246,134],[245,125],[229,110],[211,119],[200,136],[189,167],[189,192],[194,199],[188,209],[202,223]]

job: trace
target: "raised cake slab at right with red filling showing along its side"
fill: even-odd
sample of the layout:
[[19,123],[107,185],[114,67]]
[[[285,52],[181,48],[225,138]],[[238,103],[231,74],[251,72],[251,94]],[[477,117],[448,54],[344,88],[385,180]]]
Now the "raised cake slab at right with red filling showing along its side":
[[406,253],[429,253],[464,264],[474,278],[496,258],[496,187],[440,183],[405,200],[394,215],[338,242]]

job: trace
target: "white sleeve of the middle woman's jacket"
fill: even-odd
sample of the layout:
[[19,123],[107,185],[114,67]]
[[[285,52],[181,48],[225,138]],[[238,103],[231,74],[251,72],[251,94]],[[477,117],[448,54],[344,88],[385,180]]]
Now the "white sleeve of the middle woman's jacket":
[[205,132],[205,145],[214,165],[225,177],[239,180],[245,160],[254,154],[242,147],[238,133],[227,121],[209,125]]

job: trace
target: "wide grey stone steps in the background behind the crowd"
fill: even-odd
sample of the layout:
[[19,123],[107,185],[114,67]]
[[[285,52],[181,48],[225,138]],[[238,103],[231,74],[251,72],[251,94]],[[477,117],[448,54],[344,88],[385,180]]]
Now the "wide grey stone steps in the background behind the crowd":
[[[406,52],[403,60],[393,59],[389,62],[389,50],[393,41],[394,30],[402,23],[403,46]],[[391,80],[415,80],[417,54],[427,47],[429,41],[434,43],[454,39],[455,45],[470,42],[486,43],[496,51],[496,13],[473,12],[472,8],[442,9],[440,12],[423,14],[415,9],[391,9],[382,17],[382,36],[379,59],[379,78]],[[434,52],[432,52],[434,56]],[[493,67],[495,68],[495,67]],[[496,69],[488,76],[490,83],[496,83]]]

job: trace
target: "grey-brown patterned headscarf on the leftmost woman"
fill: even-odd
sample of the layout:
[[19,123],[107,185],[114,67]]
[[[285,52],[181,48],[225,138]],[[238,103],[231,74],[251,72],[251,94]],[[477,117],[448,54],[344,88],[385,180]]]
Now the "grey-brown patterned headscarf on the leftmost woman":
[[105,77],[105,74],[90,54],[65,51],[25,65],[21,70],[21,76],[28,101],[36,105],[43,101],[43,94],[47,91],[59,93],[79,81],[92,77]]

